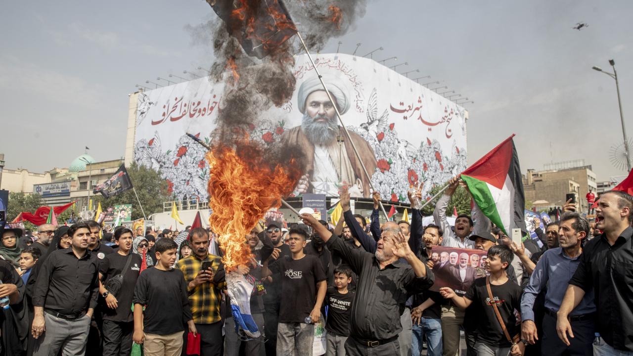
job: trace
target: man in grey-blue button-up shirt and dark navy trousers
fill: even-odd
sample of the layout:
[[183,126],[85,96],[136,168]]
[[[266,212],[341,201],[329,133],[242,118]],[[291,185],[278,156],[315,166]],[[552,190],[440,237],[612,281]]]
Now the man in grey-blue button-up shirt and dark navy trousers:
[[566,212],[560,219],[558,241],[560,247],[552,248],[543,253],[541,260],[530,277],[530,284],[523,293],[521,300],[521,336],[530,344],[537,339],[537,329],[534,321],[534,302],[537,295],[544,288],[545,316],[542,321],[541,352],[543,355],[591,356],[594,339],[594,293],[586,293],[580,304],[570,313],[570,323],[573,327],[574,338],[570,338],[567,346],[556,334],[556,312],[563,302],[563,296],[574,272],[580,264],[582,240],[589,233],[589,222],[579,213]]

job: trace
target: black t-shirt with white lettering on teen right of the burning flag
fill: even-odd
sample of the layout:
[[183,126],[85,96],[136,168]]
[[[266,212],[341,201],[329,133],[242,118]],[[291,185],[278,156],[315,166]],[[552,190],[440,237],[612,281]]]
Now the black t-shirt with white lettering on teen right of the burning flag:
[[314,255],[280,257],[270,270],[281,277],[279,322],[305,322],[315,306],[316,283],[327,278],[321,261]]

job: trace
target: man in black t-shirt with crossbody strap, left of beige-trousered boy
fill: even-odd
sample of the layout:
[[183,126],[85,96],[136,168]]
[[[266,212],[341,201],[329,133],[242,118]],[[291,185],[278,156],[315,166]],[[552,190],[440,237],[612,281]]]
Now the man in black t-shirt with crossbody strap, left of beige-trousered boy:
[[[134,296],[134,286],[141,272],[141,256],[130,253],[132,230],[117,229],[114,238],[118,242],[118,251],[107,255],[99,264],[99,294],[103,297],[101,299],[103,356],[130,354],[134,331],[134,316],[130,305]],[[128,259],[130,259],[129,263]],[[123,271],[125,265],[128,267]],[[122,274],[123,281],[115,293],[108,290],[106,285],[118,274]]]

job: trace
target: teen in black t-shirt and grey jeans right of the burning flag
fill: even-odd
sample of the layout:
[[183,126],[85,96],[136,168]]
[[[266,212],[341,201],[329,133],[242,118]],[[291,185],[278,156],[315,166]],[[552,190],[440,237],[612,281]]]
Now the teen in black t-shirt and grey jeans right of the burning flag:
[[291,229],[288,235],[292,257],[278,258],[269,267],[271,258],[279,257],[276,248],[261,268],[263,278],[274,273],[281,278],[277,355],[312,356],[314,323],[321,317],[327,277],[318,257],[303,252],[306,232]]

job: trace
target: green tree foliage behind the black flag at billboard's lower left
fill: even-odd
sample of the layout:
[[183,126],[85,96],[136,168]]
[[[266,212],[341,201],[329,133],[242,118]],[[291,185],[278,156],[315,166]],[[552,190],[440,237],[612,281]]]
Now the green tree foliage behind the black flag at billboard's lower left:
[[[149,215],[163,211],[163,201],[169,200],[167,193],[167,182],[161,178],[160,172],[156,172],[151,168],[132,163],[127,167],[127,173],[130,175],[132,186],[139,194],[139,200],[143,205],[145,215]],[[136,200],[132,189],[124,191],[121,194],[113,196],[109,199],[104,198],[101,194],[92,197],[92,208],[96,209],[97,204],[101,203],[101,208],[105,211],[108,207],[122,204],[132,204],[132,220],[141,219],[143,213],[139,202]]]

